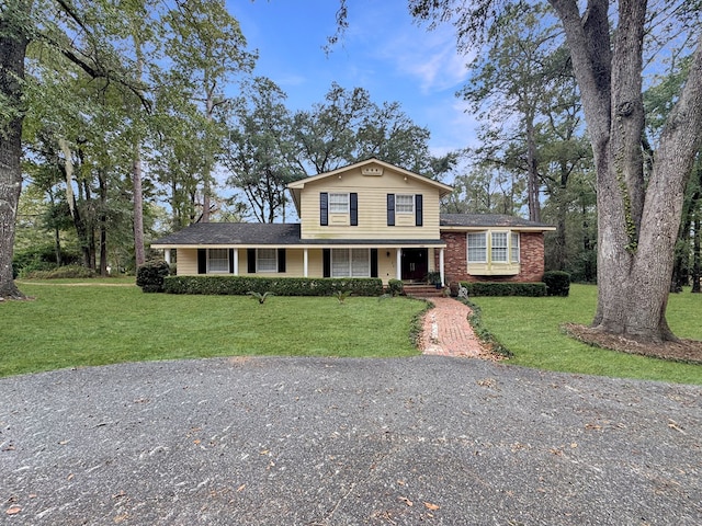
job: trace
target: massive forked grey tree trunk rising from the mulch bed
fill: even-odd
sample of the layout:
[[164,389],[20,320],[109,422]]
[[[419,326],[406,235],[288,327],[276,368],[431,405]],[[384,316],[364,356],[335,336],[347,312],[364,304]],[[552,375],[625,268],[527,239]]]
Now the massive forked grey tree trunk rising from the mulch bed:
[[642,54],[646,2],[621,0],[610,52],[608,0],[580,16],[575,0],[550,0],[561,18],[597,169],[599,330],[649,342],[675,339],[666,322],[684,183],[702,128],[698,50],[664,128],[644,196]]

